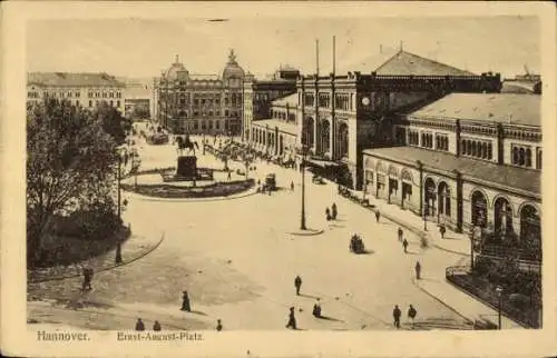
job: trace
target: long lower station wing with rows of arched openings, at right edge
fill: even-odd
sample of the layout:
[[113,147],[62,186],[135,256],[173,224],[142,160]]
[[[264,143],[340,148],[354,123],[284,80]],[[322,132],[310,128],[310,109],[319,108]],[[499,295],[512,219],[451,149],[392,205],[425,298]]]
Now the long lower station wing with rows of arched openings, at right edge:
[[540,237],[540,96],[452,93],[363,151],[364,190],[428,221]]

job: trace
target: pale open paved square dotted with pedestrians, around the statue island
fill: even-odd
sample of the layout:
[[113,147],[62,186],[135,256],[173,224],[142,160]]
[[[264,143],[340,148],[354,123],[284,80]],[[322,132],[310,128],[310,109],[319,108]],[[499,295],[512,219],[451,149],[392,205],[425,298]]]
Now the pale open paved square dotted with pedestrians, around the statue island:
[[[173,146],[140,146],[141,169],[175,166]],[[402,328],[409,328],[405,311],[412,304],[421,329],[469,328],[463,318],[412,282],[417,260],[427,280],[429,271],[444,270],[460,257],[433,248],[423,250],[410,232],[405,233],[410,252],[403,253],[395,225],[377,223],[370,211],[339,197],[334,185],[311,183],[311,173],[306,175],[307,227],[324,229],[324,233],[289,235],[300,226],[301,175],[258,161],[255,165],[257,170],[251,176],[264,178],[275,172],[281,190],[272,196],[206,202],[153,202],[126,193],[125,221],[131,222],[134,232],[160,236],[164,231],[166,238],[145,258],[97,275],[95,290],[81,299],[92,308],[94,304],[104,305],[102,309],[115,315],[160,317],[169,327],[212,328],[222,318],[226,329],[284,329],[289,307],[294,306],[301,329],[393,329],[392,308],[399,305]],[[243,167],[231,165],[235,166]],[[293,192],[286,189],[291,180]],[[340,215],[329,223],[324,211],[333,201]],[[369,255],[349,252],[353,233],[361,235]],[[293,285],[296,275],[303,279],[299,297]],[[47,289],[60,299],[75,300],[79,295],[74,289],[78,279],[51,285]],[[184,289],[195,312],[179,311]],[[316,297],[329,319],[311,315]],[[60,324],[85,325],[71,315],[57,317]],[[106,312],[94,317],[98,325],[108,319]],[[131,321],[111,319],[110,325],[131,328],[125,327]]]

